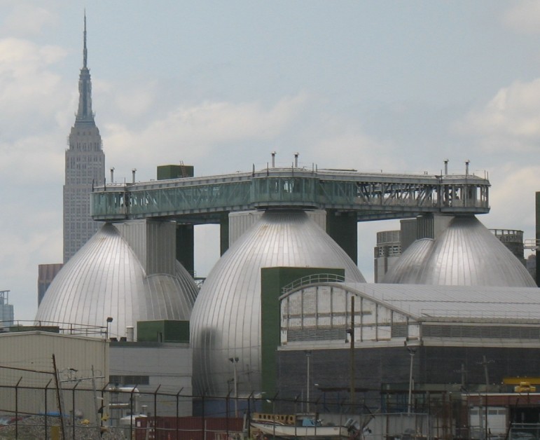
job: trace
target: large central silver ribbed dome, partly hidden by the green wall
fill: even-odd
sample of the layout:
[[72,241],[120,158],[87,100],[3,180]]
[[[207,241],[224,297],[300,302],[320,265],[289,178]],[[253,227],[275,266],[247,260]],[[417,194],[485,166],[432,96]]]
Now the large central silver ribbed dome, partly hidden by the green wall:
[[238,358],[239,395],[261,391],[261,268],[344,268],[354,262],[305,212],[268,211],[223,254],[191,315],[195,393],[226,395]]

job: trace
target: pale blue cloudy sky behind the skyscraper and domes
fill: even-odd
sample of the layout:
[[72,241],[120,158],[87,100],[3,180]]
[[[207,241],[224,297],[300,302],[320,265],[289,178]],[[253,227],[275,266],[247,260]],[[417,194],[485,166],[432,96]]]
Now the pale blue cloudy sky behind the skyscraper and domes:
[[[88,26],[106,170],[155,179],[276,165],[488,173],[488,228],[534,238],[540,2],[0,0],[0,290],[33,319],[41,263],[62,261],[62,186]],[[107,172],[107,176],[109,172]],[[373,282],[375,233],[359,224]],[[195,230],[195,271],[219,258]]]

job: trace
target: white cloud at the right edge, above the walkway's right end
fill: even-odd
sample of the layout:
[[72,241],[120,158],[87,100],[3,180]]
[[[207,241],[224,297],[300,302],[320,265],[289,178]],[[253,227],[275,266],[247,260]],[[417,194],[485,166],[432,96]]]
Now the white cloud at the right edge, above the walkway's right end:
[[487,151],[530,151],[540,144],[540,78],[501,88],[483,109],[471,111],[457,125],[476,135]]

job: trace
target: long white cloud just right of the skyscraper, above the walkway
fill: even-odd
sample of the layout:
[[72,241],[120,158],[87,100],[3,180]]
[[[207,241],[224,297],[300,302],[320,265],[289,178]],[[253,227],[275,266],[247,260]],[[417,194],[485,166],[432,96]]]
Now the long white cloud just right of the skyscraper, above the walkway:
[[202,102],[177,106],[139,130],[122,122],[105,124],[107,161],[125,163],[137,151],[141,164],[176,163],[181,158],[196,163],[208,160],[224,144],[234,154],[235,145],[279,136],[298,118],[307,100],[303,94],[284,97],[268,109],[257,102]]

